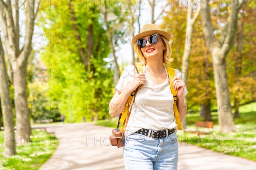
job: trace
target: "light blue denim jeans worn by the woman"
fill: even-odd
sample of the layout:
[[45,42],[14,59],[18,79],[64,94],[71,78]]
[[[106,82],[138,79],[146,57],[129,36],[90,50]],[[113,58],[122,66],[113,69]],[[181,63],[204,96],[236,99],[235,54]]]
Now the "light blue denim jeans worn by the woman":
[[125,137],[124,162],[125,170],[177,170],[176,133],[159,139],[138,133]]

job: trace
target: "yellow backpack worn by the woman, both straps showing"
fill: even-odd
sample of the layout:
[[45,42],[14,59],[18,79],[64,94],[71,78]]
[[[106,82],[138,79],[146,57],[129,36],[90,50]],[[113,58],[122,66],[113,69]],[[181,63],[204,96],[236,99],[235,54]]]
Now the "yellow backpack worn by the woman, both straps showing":
[[[175,70],[173,68],[170,68],[170,67],[167,67],[167,66],[166,66],[166,68],[167,68],[167,72],[168,72],[168,77],[170,79],[170,89],[171,89],[171,92],[172,92],[172,95],[173,95],[173,98],[174,98],[174,104],[173,104],[174,116],[175,116],[175,119],[176,119],[177,128],[178,128],[178,130],[181,130],[182,128],[181,128],[181,123],[180,123],[180,114],[179,114],[179,111],[177,109],[177,104],[176,104],[177,90],[175,91],[173,86],[172,86],[173,85],[172,79],[174,77],[176,77],[176,74],[175,74]],[[135,71],[134,73],[137,73],[137,74],[143,73],[142,65],[139,65],[139,64],[134,65],[134,71]],[[137,91],[140,90],[140,87],[141,87],[141,85],[139,85],[136,88],[136,90],[131,92],[131,95],[128,97],[128,99],[125,103],[125,108],[124,108],[123,112],[120,114],[118,126],[119,126],[119,123],[121,122],[122,123],[122,128],[121,128],[122,132],[125,131],[125,127],[127,125],[126,122],[128,122],[128,120],[129,120],[129,116],[130,116],[130,113],[131,113],[131,108],[130,108],[131,101],[134,98],[134,96],[137,94]],[[130,108],[129,113],[128,113],[128,108]]]

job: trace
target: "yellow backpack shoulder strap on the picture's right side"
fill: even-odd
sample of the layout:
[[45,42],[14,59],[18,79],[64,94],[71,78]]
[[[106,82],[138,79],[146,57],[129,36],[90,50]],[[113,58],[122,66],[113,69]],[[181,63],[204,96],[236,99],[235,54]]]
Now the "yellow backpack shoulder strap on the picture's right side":
[[170,68],[170,67],[166,66],[166,69],[167,69],[167,72],[168,72],[168,77],[170,79],[170,89],[171,89],[173,99],[174,99],[174,104],[173,104],[174,116],[175,116],[175,119],[176,119],[178,130],[181,130],[182,127],[181,127],[181,122],[180,122],[180,114],[179,114],[179,111],[178,111],[178,108],[177,108],[177,92],[178,91],[174,90],[173,82],[172,82],[172,79],[174,77],[176,77],[176,74],[175,74],[175,70],[173,68]]

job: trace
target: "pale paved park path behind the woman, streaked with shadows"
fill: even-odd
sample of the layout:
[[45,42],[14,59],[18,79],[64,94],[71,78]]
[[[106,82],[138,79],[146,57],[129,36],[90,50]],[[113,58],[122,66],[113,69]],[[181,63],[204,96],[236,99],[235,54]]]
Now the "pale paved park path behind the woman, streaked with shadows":
[[[123,170],[123,149],[109,143],[112,129],[93,123],[47,126],[59,146],[40,170]],[[179,144],[178,170],[256,170],[254,161]]]

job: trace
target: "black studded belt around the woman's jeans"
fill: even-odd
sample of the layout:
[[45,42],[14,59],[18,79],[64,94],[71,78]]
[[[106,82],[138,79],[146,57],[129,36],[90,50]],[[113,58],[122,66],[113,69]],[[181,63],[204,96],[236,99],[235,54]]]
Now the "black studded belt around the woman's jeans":
[[[139,133],[148,137],[156,138],[167,138],[170,134],[175,133],[175,128],[164,129],[164,130],[150,130],[150,129],[140,129],[135,133]],[[149,135],[148,135],[149,133]]]

